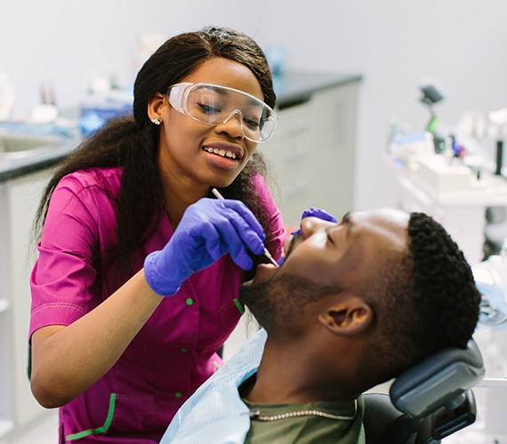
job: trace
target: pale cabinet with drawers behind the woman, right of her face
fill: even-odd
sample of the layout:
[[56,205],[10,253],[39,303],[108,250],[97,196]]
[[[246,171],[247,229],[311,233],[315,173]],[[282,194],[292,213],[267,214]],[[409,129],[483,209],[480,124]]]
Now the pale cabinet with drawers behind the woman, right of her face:
[[320,89],[277,109],[277,131],[258,149],[278,186],[274,197],[286,226],[299,226],[308,207],[336,218],[353,209],[358,85]]

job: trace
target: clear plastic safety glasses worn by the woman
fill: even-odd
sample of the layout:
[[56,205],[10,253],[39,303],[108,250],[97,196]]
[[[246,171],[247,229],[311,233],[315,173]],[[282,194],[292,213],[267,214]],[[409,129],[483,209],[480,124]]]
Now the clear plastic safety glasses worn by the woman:
[[277,115],[262,100],[246,92],[210,83],[177,83],[167,91],[169,103],[183,115],[208,125],[239,117],[245,138],[261,143],[277,127]]

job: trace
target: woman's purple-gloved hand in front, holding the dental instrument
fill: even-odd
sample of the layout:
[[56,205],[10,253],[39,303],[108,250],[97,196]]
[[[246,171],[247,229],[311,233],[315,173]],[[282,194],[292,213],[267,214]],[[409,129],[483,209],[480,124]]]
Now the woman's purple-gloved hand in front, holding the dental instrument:
[[251,269],[248,251],[262,254],[264,238],[261,224],[243,202],[200,199],[183,213],[165,247],[145,259],[144,274],[151,289],[171,296],[191,274],[226,253],[237,266]]

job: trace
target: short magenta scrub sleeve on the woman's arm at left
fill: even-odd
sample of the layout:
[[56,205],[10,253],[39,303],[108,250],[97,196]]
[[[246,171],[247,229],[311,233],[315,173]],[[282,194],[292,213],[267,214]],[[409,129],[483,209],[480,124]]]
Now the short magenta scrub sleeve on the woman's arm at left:
[[47,325],[68,325],[98,305],[92,293],[97,210],[90,189],[72,178],[63,178],[54,190],[30,277],[29,337]]

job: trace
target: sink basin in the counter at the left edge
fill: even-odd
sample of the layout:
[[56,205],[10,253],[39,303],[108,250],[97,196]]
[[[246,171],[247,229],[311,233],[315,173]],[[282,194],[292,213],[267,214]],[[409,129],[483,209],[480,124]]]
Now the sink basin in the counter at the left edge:
[[23,159],[39,155],[58,146],[63,137],[57,135],[3,134],[0,132],[0,158]]

